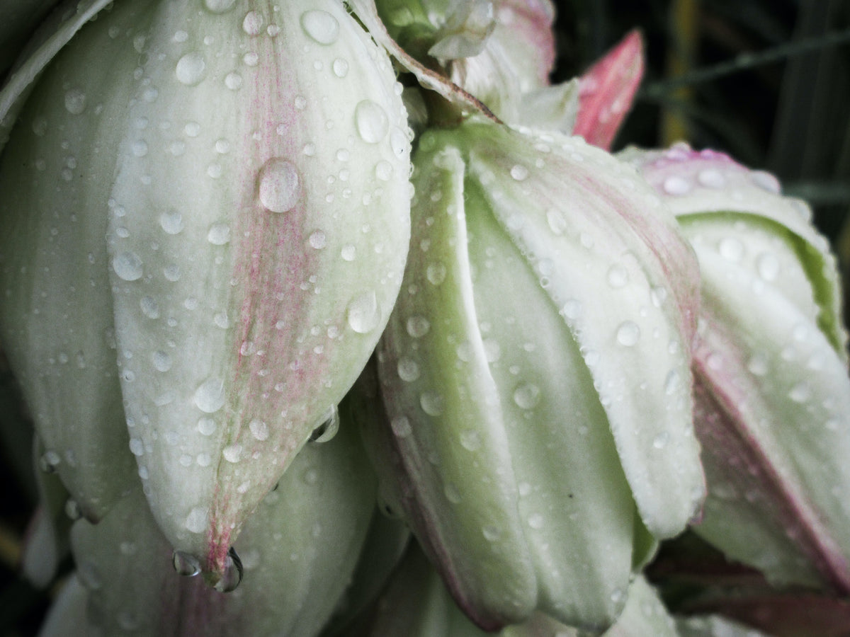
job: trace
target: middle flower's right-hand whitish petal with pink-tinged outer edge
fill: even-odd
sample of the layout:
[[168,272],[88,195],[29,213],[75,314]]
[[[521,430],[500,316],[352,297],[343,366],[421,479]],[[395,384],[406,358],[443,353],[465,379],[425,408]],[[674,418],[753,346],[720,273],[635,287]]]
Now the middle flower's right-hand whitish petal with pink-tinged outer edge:
[[644,523],[670,537],[703,493],[690,424],[694,256],[628,166],[579,138],[521,139],[480,134],[469,170],[580,347]]

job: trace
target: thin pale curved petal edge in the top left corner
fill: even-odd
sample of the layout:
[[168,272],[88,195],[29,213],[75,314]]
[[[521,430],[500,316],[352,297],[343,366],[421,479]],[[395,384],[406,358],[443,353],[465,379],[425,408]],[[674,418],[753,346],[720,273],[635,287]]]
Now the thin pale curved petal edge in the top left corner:
[[38,29],[0,90],[0,150],[39,74],[77,31],[109,3],[110,0],[67,0]]

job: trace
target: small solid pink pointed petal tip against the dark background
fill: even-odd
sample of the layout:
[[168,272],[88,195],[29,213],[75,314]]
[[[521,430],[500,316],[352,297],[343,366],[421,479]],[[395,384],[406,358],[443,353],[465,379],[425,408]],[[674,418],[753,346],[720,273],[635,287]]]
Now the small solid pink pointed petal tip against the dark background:
[[631,31],[580,79],[575,135],[608,149],[632,108],[643,77],[643,38]]

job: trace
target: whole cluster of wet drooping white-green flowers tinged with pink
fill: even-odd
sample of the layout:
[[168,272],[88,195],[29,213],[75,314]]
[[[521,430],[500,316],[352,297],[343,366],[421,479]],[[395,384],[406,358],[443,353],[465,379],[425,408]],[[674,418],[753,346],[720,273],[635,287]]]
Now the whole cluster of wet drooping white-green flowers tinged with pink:
[[686,529],[850,594],[829,245],[726,155],[612,155],[641,38],[552,86],[553,15],[84,0],[0,59],[42,634],[750,634],[643,577]]

